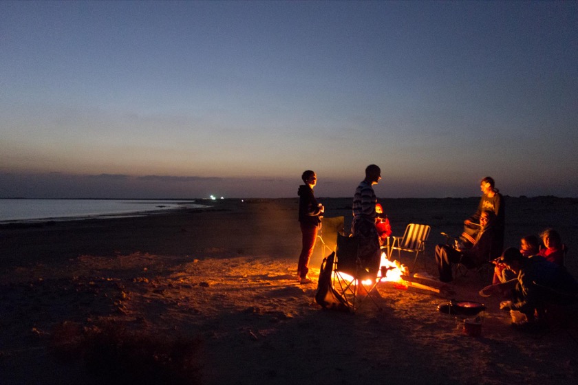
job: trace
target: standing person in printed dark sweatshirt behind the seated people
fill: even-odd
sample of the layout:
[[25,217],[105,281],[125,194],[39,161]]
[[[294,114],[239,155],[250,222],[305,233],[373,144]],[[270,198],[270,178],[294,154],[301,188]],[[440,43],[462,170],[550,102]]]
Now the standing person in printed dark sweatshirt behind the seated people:
[[478,210],[464,221],[464,232],[460,239],[464,246],[468,247],[475,241],[475,236],[480,231],[480,215],[482,211],[491,211],[495,214],[495,250],[493,250],[494,257],[500,256],[504,248],[504,225],[506,218],[506,207],[504,205],[504,197],[500,194],[500,190],[495,188],[495,181],[492,177],[485,177],[480,181],[480,190],[482,190],[482,198],[478,203]]

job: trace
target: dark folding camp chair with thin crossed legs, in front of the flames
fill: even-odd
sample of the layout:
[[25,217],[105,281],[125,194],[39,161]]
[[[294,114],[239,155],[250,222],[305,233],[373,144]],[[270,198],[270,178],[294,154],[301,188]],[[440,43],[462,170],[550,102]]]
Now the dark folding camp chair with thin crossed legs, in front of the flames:
[[355,312],[365,298],[370,298],[374,305],[381,309],[371,296],[379,278],[377,273],[370,273],[363,266],[358,255],[358,238],[356,236],[337,235],[337,248],[333,270],[333,286],[349,303],[350,310]]

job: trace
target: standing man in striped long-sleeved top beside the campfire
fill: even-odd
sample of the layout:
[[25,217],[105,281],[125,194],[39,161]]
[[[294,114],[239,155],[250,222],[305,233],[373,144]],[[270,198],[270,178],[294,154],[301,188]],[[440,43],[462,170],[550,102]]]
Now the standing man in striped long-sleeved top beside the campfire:
[[381,179],[381,168],[370,164],[365,168],[365,179],[355,190],[351,232],[359,240],[359,259],[372,278],[377,276],[381,261],[379,235],[375,226],[377,197],[373,185]]

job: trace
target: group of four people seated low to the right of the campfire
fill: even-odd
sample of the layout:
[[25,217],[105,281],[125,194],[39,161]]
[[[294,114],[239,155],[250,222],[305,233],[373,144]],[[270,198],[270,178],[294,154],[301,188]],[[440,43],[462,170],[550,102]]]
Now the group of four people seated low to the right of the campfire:
[[[522,237],[520,249],[496,250],[493,241],[492,212],[480,216],[480,231],[470,248],[455,244],[437,245],[436,262],[440,281],[452,281],[452,263],[468,268],[490,261],[494,266],[492,284],[480,291],[482,296],[501,295],[500,308],[520,311],[526,324],[542,322],[548,307],[578,303],[578,283],[564,267],[565,246],[559,233],[546,229],[539,238]],[[497,258],[491,258],[495,254]]]

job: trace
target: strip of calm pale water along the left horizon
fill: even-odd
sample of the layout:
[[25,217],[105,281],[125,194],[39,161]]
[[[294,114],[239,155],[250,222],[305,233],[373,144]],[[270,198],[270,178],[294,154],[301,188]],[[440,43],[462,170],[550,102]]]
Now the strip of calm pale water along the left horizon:
[[0,222],[130,215],[204,205],[186,200],[0,199]]

